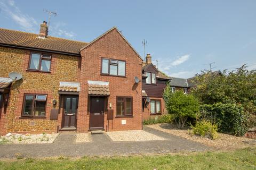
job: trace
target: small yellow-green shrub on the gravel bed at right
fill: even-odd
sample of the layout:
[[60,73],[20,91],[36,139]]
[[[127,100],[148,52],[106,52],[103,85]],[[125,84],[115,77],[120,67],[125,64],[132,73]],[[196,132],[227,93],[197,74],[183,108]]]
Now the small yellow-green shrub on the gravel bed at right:
[[218,128],[217,125],[212,124],[210,121],[199,121],[196,122],[196,125],[193,126],[190,124],[191,134],[201,135],[201,137],[207,137],[210,139],[218,138]]

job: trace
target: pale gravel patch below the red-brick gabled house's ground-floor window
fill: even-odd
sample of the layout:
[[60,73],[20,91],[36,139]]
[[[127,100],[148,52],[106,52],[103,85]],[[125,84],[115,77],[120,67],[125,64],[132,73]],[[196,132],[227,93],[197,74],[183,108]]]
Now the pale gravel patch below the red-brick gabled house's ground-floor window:
[[143,130],[107,132],[107,135],[114,142],[166,140]]

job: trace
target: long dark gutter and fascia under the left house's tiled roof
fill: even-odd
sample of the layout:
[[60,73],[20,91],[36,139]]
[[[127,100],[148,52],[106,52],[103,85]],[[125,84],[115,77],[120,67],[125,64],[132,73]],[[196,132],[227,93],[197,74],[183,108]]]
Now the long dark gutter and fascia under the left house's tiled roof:
[[37,50],[40,52],[47,52],[47,53],[65,54],[65,55],[72,55],[72,56],[77,56],[77,57],[81,56],[80,54],[77,54],[77,53],[69,53],[69,52],[62,52],[62,51],[58,51],[58,50],[50,50],[50,49],[35,48],[35,47],[26,47],[26,46],[14,45],[14,44],[0,43],[0,46],[10,47],[10,48],[19,48],[19,49]]

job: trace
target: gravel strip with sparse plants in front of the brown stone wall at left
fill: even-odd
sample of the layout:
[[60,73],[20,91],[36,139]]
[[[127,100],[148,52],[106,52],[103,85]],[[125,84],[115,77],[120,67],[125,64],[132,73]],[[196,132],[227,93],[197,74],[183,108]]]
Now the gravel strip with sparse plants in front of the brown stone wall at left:
[[52,134],[18,134],[9,133],[7,136],[0,137],[0,144],[18,143],[53,143],[59,133]]

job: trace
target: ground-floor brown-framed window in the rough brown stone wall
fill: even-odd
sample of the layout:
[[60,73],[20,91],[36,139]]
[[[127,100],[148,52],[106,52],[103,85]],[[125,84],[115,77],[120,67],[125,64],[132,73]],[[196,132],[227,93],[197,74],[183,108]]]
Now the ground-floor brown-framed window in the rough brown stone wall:
[[47,95],[25,94],[21,116],[45,117]]

